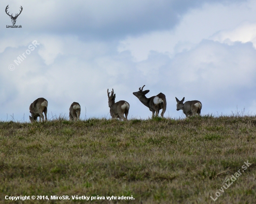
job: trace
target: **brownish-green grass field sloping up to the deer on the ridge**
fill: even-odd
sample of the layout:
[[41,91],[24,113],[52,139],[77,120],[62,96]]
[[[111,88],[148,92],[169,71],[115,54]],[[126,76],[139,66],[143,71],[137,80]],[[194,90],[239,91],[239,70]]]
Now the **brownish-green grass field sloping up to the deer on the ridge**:
[[0,203],[255,204],[256,117],[0,122]]

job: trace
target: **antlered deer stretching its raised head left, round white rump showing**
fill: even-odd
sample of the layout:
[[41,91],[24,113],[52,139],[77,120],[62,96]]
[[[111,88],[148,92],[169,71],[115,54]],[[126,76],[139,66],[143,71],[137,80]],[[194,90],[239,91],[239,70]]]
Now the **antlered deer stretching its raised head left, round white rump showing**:
[[[144,85],[145,86],[145,85]],[[154,116],[158,116],[159,111],[162,109],[161,116],[163,118],[163,114],[166,111],[166,98],[163,93],[159,93],[156,96],[152,96],[147,98],[145,95],[149,92],[149,90],[143,91],[143,87],[140,87],[138,92],[133,92],[142,104],[146,105],[149,108],[149,111],[152,111],[152,118]]]

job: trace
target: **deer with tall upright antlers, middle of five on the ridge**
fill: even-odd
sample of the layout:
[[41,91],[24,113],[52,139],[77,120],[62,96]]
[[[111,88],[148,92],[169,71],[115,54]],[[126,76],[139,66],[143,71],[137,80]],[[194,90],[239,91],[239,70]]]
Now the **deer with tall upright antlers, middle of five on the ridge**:
[[[130,108],[129,103],[125,100],[120,100],[115,103],[114,89],[112,89],[110,96],[109,96],[109,93],[110,92],[108,92],[108,107],[110,108],[111,117],[127,120],[127,116]],[[125,114],[125,118],[123,114]]]

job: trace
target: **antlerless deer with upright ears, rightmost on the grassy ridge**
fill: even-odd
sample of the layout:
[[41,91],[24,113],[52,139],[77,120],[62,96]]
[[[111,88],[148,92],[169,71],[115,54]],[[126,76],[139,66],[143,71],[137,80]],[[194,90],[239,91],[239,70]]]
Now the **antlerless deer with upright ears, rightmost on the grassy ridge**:
[[177,101],[177,111],[182,110],[186,117],[191,115],[200,115],[202,109],[202,103],[199,100],[187,101],[183,104],[185,97],[180,101],[175,97]]

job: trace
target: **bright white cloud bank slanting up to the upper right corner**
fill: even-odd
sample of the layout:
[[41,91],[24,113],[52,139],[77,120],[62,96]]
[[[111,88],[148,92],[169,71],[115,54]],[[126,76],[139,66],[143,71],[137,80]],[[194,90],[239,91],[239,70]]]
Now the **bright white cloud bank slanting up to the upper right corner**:
[[[214,38],[222,42],[223,38],[231,34],[225,31],[227,29],[236,33],[230,36],[232,39],[237,39],[242,34],[244,40],[254,41],[255,35],[252,33],[255,33],[255,24],[242,27],[240,25],[245,20],[256,22],[255,12],[256,2],[253,0],[232,5],[205,4],[203,7],[191,9],[182,16],[180,23],[174,29],[153,31],[141,36],[128,36],[120,40],[118,51],[130,51],[135,61],[147,59],[150,51],[168,53],[173,57],[176,53],[193,48],[202,39]],[[234,27],[237,28],[234,30]],[[245,32],[248,32],[246,36]],[[218,34],[214,35],[215,33]]]

